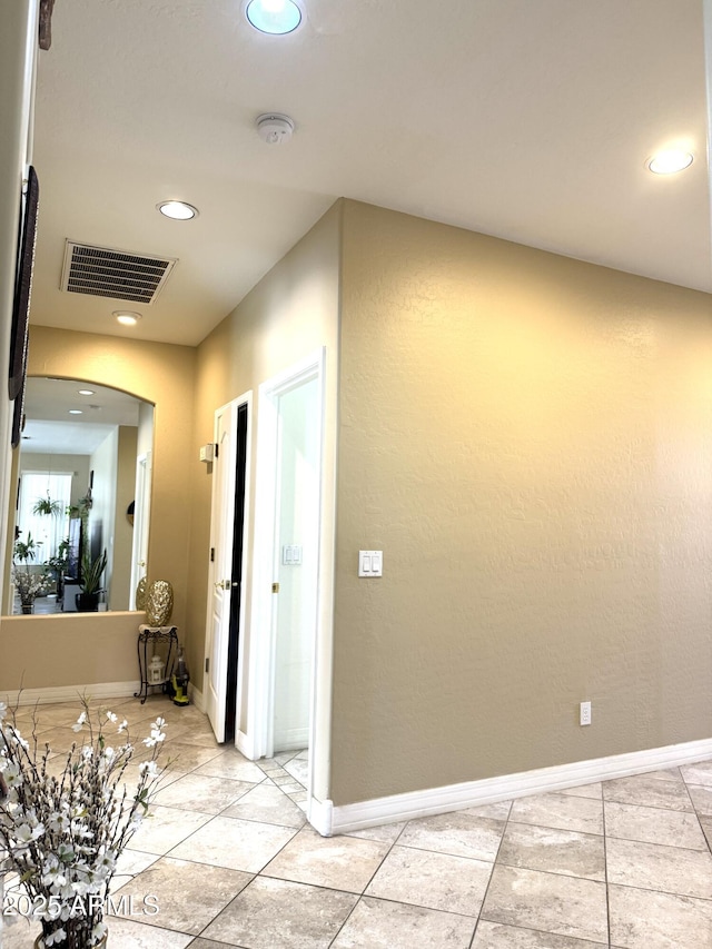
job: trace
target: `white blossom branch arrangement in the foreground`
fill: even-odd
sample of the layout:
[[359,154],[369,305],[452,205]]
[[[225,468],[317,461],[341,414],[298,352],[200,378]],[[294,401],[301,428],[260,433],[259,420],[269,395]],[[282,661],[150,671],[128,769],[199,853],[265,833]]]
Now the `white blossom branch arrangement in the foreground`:
[[[40,749],[36,725],[30,743],[20,734],[14,714],[0,703],[0,784],[4,785],[0,788],[0,848],[19,876],[32,918],[42,925],[36,945],[43,949],[102,945],[105,901],[117,860],[148,812],[160,780],[157,758],[166,737],[164,719],[152,722],[142,741],[150,753],[140,762],[138,783],[130,790],[126,769],[136,748],[126,719],[118,723],[113,712],[92,712],[86,698],[82,706],[72,728],[86,730],[88,740],[72,744],[59,770],[50,762],[50,747]],[[116,748],[106,734],[113,725],[122,742]]]

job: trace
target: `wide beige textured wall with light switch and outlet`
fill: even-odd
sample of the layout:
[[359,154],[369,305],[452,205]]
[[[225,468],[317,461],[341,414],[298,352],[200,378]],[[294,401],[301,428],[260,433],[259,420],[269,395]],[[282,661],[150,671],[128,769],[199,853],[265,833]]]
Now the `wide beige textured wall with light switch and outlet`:
[[349,201],[340,359],[335,803],[709,737],[709,296]]

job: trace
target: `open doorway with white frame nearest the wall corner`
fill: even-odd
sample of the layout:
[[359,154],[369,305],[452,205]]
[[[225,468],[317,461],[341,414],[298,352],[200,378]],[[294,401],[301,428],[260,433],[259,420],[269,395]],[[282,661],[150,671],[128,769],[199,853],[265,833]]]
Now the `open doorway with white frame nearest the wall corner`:
[[241,743],[255,759],[312,752],[314,744],[323,384],[318,353],[259,388],[249,728]]

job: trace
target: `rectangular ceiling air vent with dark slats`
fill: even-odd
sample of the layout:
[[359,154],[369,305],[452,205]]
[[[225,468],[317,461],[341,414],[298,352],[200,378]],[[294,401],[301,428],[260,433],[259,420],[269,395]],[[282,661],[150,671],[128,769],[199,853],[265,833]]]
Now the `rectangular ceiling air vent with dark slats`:
[[176,263],[166,257],[89,247],[68,240],[61,289],[150,305]]

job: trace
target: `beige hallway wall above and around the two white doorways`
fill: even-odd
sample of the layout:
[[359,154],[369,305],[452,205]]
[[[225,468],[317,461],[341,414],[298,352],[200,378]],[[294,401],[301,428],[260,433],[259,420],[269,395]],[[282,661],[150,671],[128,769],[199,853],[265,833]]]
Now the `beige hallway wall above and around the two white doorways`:
[[[233,313],[198,347],[196,414],[192,455],[212,441],[215,411],[234,398],[253,392],[251,496],[248,517],[254,516],[255,461],[257,438],[257,391],[261,383],[306,358],[318,347],[327,347],[327,403],[329,408],[327,452],[335,453],[336,357],[338,314],[338,229],[340,205],[335,205],[312,230],[267,274]],[[191,597],[188,623],[206,630],[208,554],[210,543],[211,466],[191,468],[192,543],[190,558]],[[329,530],[333,525],[329,524]],[[247,551],[244,590],[249,591]],[[249,594],[247,616],[249,616]],[[259,631],[255,631],[259,634]],[[249,635],[248,635],[249,641]],[[249,645],[249,642],[247,643]],[[202,688],[204,639],[191,642],[188,655],[191,676]],[[243,658],[247,661],[247,655]],[[245,715],[245,709],[243,709]]]

